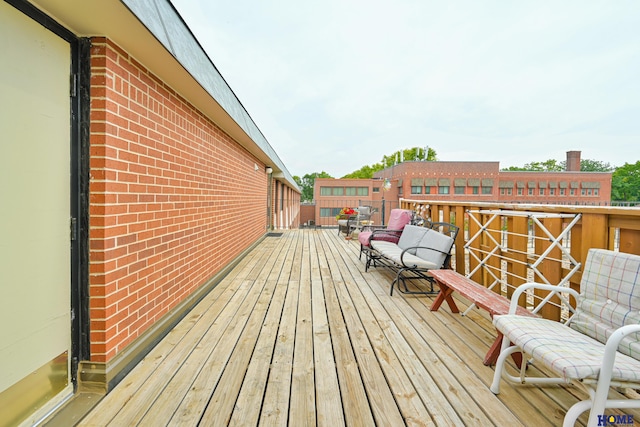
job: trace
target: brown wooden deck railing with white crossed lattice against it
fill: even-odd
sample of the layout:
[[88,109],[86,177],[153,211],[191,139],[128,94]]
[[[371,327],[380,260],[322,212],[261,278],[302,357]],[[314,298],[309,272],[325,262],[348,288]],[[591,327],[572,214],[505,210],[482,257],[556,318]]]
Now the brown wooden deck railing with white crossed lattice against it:
[[[579,289],[590,248],[640,255],[640,208],[409,199],[401,199],[400,207],[464,230],[456,239],[454,268],[505,296],[527,281]],[[561,311],[556,306],[543,315],[559,319]]]

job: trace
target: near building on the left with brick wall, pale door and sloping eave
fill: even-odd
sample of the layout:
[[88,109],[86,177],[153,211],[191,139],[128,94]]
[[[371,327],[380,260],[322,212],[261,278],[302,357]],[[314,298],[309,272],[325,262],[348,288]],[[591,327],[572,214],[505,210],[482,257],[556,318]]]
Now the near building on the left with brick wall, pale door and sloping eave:
[[0,424],[33,424],[298,227],[300,192],[167,0],[0,2],[0,44]]

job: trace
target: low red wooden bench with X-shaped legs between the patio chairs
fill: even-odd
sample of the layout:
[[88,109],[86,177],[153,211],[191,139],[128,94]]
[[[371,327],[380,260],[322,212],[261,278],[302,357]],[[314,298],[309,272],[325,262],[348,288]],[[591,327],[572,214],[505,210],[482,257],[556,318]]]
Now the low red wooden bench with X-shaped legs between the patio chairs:
[[[431,270],[429,271],[429,274],[433,277],[435,283],[440,288],[438,296],[431,304],[431,311],[438,311],[442,303],[446,301],[452,313],[459,313],[460,310],[451,296],[451,294],[457,292],[477,307],[488,311],[492,319],[494,315],[509,313],[510,301],[506,297],[485,288],[460,273],[453,270]],[[524,307],[519,307],[517,314],[521,316],[537,317]],[[487,366],[495,364],[496,360],[498,360],[498,356],[500,355],[502,333],[500,333],[500,331],[497,332],[498,337],[491,345],[491,348],[489,348],[489,351],[483,360],[483,363]],[[522,363],[521,353],[514,353],[512,357],[518,366],[520,366]]]

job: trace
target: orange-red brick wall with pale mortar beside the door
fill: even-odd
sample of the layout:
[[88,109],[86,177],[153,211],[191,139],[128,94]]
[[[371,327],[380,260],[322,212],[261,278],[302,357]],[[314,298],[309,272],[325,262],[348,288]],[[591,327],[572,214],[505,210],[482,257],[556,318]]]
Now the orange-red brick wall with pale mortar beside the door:
[[93,39],[91,68],[91,358],[104,362],[264,234],[267,175],[112,41]]

